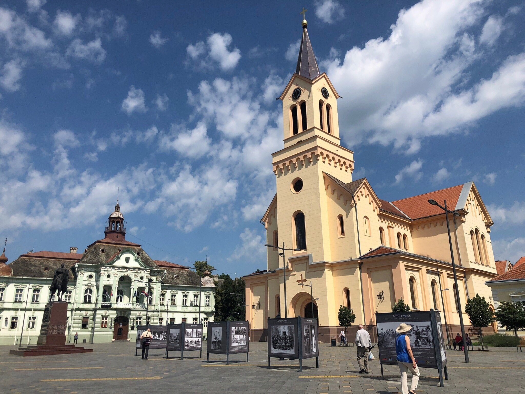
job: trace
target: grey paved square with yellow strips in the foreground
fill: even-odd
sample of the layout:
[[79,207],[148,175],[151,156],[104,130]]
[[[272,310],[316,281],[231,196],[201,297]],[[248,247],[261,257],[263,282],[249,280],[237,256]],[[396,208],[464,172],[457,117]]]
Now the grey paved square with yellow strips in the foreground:
[[[205,344],[204,344],[205,345]],[[0,376],[2,393],[398,393],[399,370],[385,367],[381,380],[379,361],[370,363],[371,373],[360,376],[354,347],[320,345],[319,369],[315,359],[299,362],[272,359],[268,369],[267,344],[250,344],[249,362],[246,355],[226,357],[210,355],[206,362],[199,352],[185,352],[176,358],[170,352],[166,359],[163,350],[151,350],[150,359],[135,356],[134,343],[90,345],[93,353],[61,356],[17,357],[0,347]],[[88,346],[89,347],[89,346]],[[377,354],[375,354],[377,356]],[[447,351],[449,380],[438,387],[435,369],[421,369],[417,392],[421,393],[506,393],[525,391],[525,352],[511,348],[491,348],[471,351],[470,364],[465,364],[463,352]],[[275,368],[274,368],[275,367]]]

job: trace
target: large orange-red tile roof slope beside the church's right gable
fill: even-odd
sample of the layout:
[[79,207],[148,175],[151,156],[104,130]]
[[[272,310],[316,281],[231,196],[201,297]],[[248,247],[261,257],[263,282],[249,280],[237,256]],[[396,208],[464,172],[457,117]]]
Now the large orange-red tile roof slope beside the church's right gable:
[[463,185],[457,185],[447,189],[436,190],[435,192],[416,195],[403,200],[392,201],[392,204],[412,219],[439,215],[443,213],[443,210],[438,206],[430,205],[428,200],[435,200],[442,205],[443,200],[447,200],[447,208],[454,210],[456,209],[456,204],[462,189]]

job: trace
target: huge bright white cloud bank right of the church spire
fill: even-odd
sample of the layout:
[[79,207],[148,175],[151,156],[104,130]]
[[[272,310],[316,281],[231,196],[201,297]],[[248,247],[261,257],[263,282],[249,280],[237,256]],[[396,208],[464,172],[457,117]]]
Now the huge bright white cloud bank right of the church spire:
[[[338,92],[342,137],[393,144],[414,153],[421,141],[468,128],[525,95],[525,55],[510,56],[492,77],[470,80],[467,70],[485,61],[472,29],[484,3],[423,0],[403,9],[391,34],[321,62]],[[424,23],[422,23],[424,21]],[[436,34],[439,32],[439,34]]]

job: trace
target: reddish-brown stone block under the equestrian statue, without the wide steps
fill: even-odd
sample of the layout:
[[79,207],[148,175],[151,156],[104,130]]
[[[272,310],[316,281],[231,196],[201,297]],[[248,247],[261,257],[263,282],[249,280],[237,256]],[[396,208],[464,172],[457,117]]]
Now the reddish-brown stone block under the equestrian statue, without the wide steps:
[[55,301],[46,305],[37,345],[66,345],[67,302]]

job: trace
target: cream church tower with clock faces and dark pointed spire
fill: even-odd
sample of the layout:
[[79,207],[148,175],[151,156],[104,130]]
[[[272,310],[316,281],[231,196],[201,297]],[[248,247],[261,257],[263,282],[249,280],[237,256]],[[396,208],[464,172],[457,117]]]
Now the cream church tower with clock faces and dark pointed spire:
[[340,144],[340,96],[328,76],[319,72],[307,26],[303,20],[296,72],[279,97],[284,148],[272,154],[272,167],[277,180],[277,241],[301,249],[293,256],[306,255],[311,263],[331,261],[324,174],[350,183],[354,161],[353,152]]

